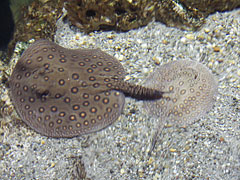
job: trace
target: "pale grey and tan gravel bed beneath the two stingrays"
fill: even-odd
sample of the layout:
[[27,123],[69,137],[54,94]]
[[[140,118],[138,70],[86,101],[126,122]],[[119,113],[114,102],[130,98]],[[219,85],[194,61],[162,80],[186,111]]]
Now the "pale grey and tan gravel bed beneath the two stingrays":
[[219,81],[216,103],[186,128],[166,126],[151,155],[158,119],[135,99],[126,98],[122,116],[110,127],[72,139],[47,138],[16,115],[3,117],[1,125],[8,126],[0,142],[0,179],[240,179],[239,9],[209,16],[197,32],[156,22],[125,33],[90,35],[62,19],[57,27],[58,44],[101,48],[120,60],[126,80],[136,84],[166,62],[199,61]]

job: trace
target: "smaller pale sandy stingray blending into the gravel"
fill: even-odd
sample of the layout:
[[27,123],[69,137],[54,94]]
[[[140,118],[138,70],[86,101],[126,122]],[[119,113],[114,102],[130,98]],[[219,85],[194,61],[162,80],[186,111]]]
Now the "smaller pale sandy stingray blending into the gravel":
[[[144,101],[144,109],[160,118],[157,135],[164,124],[186,127],[208,112],[215,102],[217,81],[196,61],[174,61],[155,69],[144,86],[164,93],[159,100]],[[153,142],[153,144],[156,142]]]

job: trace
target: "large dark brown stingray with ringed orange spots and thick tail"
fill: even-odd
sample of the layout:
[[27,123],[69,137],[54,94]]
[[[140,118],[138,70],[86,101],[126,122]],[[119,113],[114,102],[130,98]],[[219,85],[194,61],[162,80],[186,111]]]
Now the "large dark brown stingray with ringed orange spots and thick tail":
[[101,130],[120,116],[125,95],[161,98],[162,92],[124,81],[119,61],[100,49],[66,49],[33,43],[10,77],[12,101],[22,120],[50,137]]

